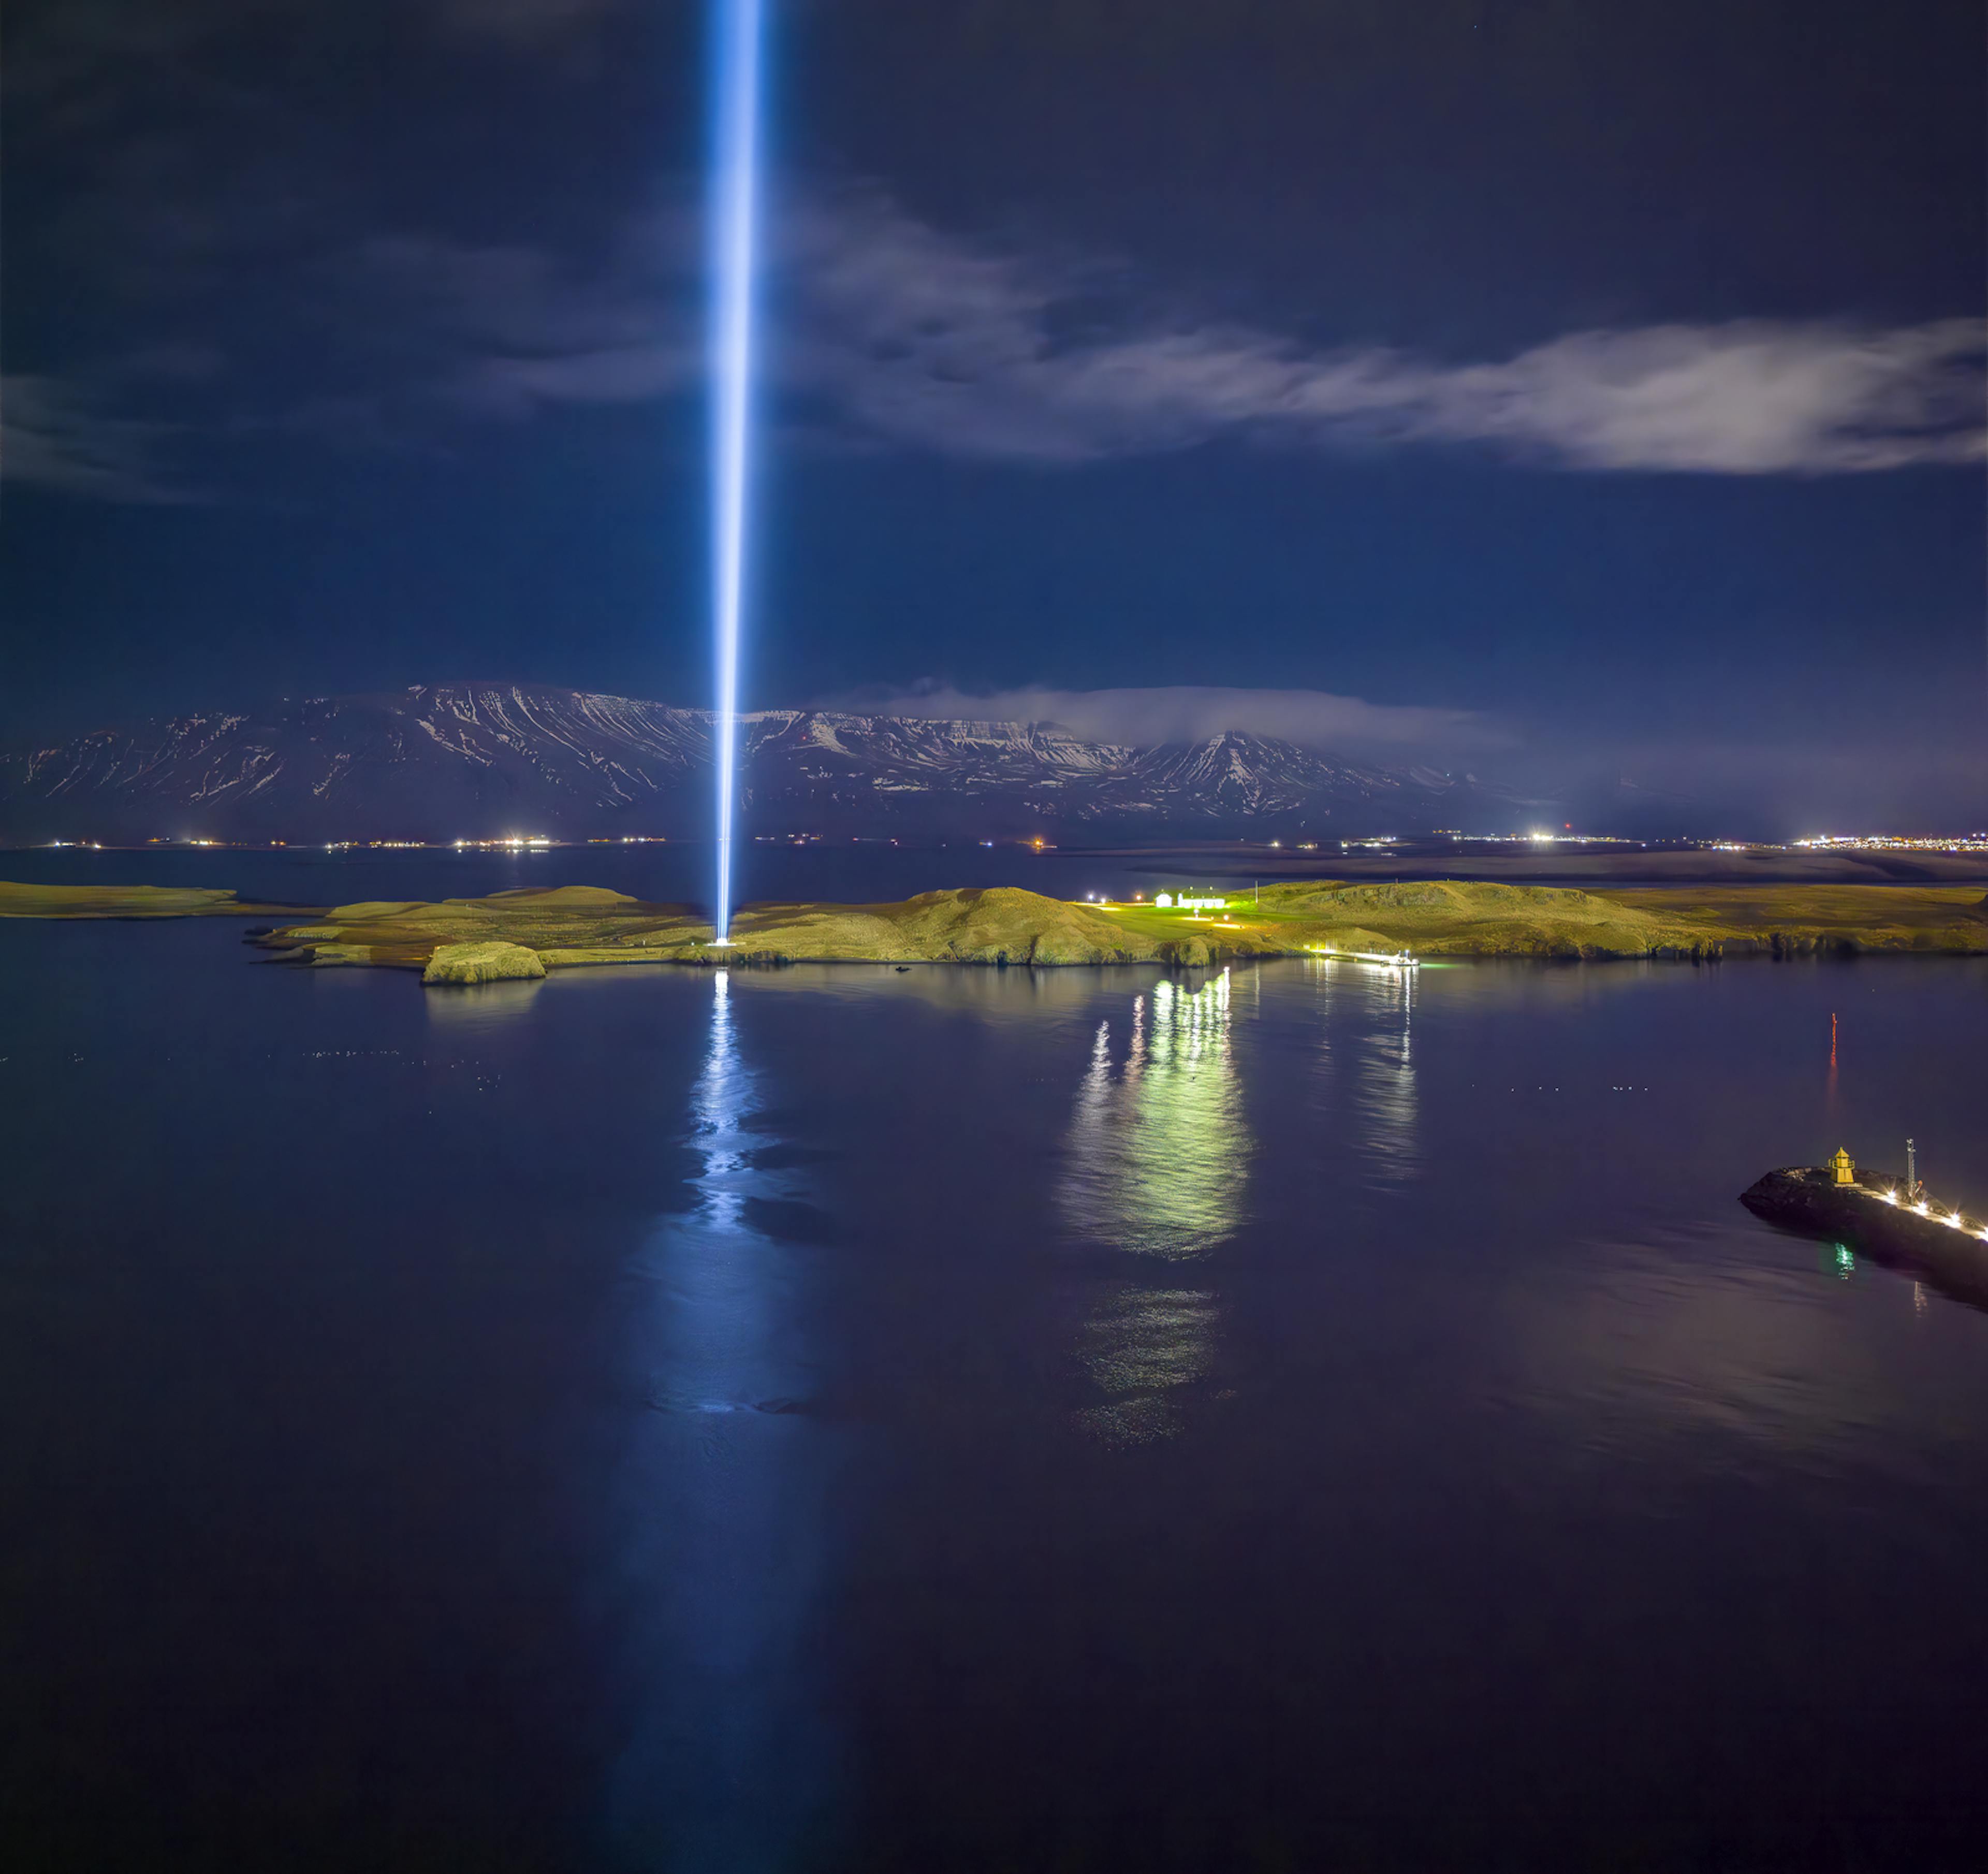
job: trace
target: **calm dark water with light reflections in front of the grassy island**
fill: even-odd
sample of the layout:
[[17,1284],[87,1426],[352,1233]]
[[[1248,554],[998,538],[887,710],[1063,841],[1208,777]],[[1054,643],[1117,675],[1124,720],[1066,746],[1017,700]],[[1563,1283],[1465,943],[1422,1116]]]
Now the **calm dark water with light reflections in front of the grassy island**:
[[237,937],[0,925],[12,1866],[1978,1864],[1988,1319],[1734,1198],[1980,963]]

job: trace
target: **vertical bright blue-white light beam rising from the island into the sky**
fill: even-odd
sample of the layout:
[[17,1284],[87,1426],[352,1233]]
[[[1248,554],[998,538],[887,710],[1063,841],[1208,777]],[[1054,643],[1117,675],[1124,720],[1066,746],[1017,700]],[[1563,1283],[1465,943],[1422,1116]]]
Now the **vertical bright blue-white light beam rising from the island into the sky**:
[[753,269],[759,237],[763,0],[714,0],[712,139],[712,607],[718,653],[716,943],[732,941],[740,635],[751,444]]

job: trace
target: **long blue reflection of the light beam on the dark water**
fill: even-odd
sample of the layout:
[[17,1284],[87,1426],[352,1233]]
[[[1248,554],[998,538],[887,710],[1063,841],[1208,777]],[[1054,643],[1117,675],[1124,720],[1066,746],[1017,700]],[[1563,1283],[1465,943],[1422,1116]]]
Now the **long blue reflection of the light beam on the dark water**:
[[[638,1267],[648,1369],[626,1476],[628,1657],[640,1705],[614,1769],[630,1868],[791,1866],[827,1788],[829,1733],[799,1659],[821,1578],[827,1446],[787,1245],[751,1221],[759,1076],[726,971],[690,1098],[696,1204]],[[783,1190],[783,1188],[781,1188]]]

